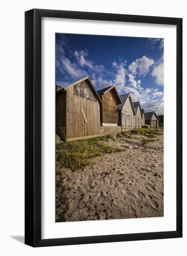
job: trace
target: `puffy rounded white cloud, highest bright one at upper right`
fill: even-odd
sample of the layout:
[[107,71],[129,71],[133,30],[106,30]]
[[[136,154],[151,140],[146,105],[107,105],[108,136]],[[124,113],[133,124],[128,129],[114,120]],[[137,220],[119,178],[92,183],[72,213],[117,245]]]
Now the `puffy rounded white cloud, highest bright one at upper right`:
[[149,59],[146,56],[143,56],[140,59],[136,59],[129,65],[129,71],[133,74],[136,75],[138,74],[139,76],[145,76],[149,72],[149,68],[155,63],[153,59]]

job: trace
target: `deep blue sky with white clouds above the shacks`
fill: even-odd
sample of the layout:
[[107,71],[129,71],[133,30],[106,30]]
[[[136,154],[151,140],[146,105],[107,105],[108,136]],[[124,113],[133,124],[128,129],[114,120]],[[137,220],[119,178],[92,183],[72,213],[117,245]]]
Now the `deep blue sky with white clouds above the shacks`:
[[87,75],[97,90],[114,84],[146,112],[163,114],[163,39],[56,34],[56,85]]

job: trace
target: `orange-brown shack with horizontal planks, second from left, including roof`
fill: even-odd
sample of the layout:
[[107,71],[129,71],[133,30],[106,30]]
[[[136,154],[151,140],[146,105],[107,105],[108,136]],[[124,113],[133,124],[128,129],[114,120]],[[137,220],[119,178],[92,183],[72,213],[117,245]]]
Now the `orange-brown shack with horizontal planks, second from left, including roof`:
[[110,86],[98,90],[103,105],[100,105],[101,125],[117,126],[118,124],[118,105],[122,104],[116,87]]

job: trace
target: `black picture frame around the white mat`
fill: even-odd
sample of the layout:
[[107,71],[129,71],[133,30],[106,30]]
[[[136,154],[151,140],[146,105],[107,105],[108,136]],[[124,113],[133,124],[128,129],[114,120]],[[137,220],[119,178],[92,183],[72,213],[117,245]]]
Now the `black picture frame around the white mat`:
[[[41,18],[107,20],[177,27],[176,230],[41,239]],[[33,247],[182,237],[182,19],[32,9],[25,12],[25,243]]]

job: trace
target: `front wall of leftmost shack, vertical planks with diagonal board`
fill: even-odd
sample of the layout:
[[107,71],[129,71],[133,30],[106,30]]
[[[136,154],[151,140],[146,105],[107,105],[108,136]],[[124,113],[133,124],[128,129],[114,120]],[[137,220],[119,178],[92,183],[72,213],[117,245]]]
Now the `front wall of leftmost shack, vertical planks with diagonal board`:
[[100,104],[87,81],[67,89],[66,130],[67,138],[100,134]]

